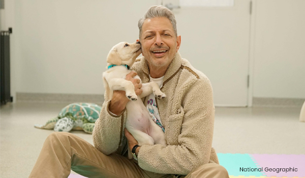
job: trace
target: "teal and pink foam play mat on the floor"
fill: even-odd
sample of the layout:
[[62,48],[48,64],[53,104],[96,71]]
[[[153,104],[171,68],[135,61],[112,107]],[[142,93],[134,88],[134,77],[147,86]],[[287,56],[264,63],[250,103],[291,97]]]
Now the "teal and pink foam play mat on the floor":
[[[217,154],[230,178],[305,178],[305,155]],[[70,174],[68,178],[86,178]]]

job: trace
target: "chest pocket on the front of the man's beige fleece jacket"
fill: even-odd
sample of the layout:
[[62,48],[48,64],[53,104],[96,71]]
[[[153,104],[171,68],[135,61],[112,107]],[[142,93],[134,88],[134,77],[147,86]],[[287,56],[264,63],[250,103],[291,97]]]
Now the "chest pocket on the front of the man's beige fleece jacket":
[[180,106],[176,114],[170,115],[168,117],[168,125],[167,128],[165,129],[167,144],[172,144],[172,145],[179,144],[178,137],[181,134],[181,125],[184,115],[185,112],[182,106]]

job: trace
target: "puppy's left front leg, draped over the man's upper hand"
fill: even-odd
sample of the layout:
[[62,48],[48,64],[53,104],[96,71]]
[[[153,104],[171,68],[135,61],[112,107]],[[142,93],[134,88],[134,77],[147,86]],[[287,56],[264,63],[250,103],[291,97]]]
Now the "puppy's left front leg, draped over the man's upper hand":
[[135,86],[131,81],[125,80],[123,78],[113,78],[108,82],[108,84],[109,84],[109,88],[112,91],[114,90],[125,91],[126,97],[129,98],[130,100],[138,99],[135,93]]

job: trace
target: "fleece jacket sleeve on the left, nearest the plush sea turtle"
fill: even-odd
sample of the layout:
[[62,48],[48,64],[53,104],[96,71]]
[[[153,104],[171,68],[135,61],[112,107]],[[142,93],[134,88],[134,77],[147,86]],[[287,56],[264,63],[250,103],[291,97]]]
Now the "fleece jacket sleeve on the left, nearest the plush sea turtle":
[[123,138],[126,110],[120,115],[111,113],[108,109],[111,100],[105,98],[100,117],[93,129],[94,146],[103,154],[110,155],[117,151]]

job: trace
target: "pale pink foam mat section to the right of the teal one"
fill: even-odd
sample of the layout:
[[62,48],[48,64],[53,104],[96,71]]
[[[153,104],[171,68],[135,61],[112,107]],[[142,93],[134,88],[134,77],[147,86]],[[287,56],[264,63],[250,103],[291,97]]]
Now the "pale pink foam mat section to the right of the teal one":
[[[267,155],[250,154],[258,167],[263,167],[263,172],[267,177],[304,177],[305,176],[305,155]],[[266,171],[266,168],[274,168]],[[290,171],[277,171],[277,168],[285,168]],[[291,169],[290,169],[291,168]],[[294,170],[293,170],[294,169]],[[297,170],[296,170],[297,169]]]

